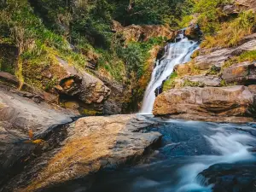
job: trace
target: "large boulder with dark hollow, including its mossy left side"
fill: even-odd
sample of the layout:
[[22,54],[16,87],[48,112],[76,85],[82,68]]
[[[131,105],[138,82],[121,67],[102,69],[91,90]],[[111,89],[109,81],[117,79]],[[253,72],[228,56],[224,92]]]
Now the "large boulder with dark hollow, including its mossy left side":
[[110,95],[102,80],[59,57],[44,67],[26,65],[24,77],[26,82],[37,84],[41,90],[58,96],[60,100],[56,104],[80,113],[102,113],[103,103]]

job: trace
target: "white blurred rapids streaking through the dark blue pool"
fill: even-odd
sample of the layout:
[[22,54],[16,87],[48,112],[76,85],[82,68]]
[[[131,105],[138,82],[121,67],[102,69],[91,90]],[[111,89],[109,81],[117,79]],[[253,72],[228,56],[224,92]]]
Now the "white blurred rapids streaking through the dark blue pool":
[[[250,146],[247,145],[250,141],[255,141],[253,137],[243,134],[230,134],[227,132],[217,132],[211,137],[207,137],[207,141],[212,144],[212,148],[218,151],[221,155],[203,155],[195,157],[197,163],[183,166],[179,170],[181,181],[177,184],[174,191],[188,192],[201,191],[211,192],[212,185],[203,186],[198,181],[197,175],[209,166],[218,163],[235,163],[238,161],[255,160],[253,154],[248,152]],[[171,191],[171,190],[170,190]]]

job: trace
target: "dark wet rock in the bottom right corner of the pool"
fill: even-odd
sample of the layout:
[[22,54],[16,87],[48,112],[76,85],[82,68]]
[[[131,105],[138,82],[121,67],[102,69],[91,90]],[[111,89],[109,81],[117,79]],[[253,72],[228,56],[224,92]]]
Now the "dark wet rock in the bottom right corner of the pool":
[[199,174],[205,185],[214,184],[213,192],[256,191],[256,165],[247,163],[217,164]]

